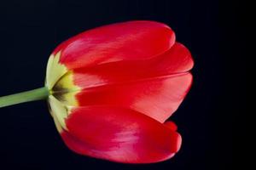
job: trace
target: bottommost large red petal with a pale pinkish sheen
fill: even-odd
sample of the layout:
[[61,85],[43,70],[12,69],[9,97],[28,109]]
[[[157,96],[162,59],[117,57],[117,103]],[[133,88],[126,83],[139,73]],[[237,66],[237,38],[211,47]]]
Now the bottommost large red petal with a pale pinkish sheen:
[[164,161],[179,150],[181,136],[137,111],[92,106],[67,119],[67,146],[86,156],[128,163]]

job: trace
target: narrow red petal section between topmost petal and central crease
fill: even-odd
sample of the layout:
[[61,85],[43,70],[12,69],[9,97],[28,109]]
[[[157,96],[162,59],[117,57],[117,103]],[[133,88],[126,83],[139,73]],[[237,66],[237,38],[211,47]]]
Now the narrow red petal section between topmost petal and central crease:
[[189,71],[194,65],[189,50],[175,43],[165,54],[153,59],[113,62],[73,71],[74,83],[80,88],[131,82]]

